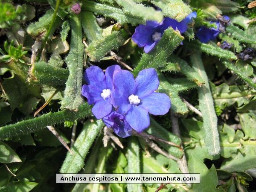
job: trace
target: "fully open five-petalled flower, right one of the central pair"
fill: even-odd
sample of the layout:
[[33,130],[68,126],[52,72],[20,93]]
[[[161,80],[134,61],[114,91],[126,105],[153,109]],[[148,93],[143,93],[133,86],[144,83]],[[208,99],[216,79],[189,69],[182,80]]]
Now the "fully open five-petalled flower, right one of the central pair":
[[155,92],[159,80],[153,68],[140,71],[135,80],[131,72],[116,70],[113,85],[113,107],[117,113],[125,116],[128,124],[137,132],[150,125],[148,113],[164,115],[171,107],[169,96]]

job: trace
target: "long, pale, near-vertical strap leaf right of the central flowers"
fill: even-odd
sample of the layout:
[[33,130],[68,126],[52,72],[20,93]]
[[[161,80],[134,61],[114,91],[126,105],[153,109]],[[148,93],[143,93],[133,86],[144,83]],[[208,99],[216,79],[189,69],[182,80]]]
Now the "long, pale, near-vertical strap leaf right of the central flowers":
[[204,143],[209,155],[220,153],[220,142],[217,127],[217,116],[215,113],[211,90],[209,87],[208,77],[204,70],[201,56],[193,54],[190,56],[191,63],[195,71],[205,80],[205,84],[198,87],[199,109],[203,114],[203,128],[205,130]]

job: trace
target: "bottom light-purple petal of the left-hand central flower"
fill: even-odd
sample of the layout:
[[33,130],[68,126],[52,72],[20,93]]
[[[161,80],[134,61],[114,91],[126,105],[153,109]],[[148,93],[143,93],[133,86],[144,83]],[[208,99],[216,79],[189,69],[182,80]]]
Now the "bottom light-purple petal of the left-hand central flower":
[[104,116],[108,115],[112,111],[112,105],[108,100],[99,100],[97,101],[92,108],[92,113],[96,119],[101,119]]

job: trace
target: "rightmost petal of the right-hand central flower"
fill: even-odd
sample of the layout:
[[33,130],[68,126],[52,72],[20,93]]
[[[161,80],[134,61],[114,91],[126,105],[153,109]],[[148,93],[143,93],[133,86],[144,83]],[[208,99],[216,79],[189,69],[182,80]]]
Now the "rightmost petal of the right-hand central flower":
[[152,93],[141,99],[139,107],[144,108],[152,115],[164,115],[171,107],[169,96],[164,93]]

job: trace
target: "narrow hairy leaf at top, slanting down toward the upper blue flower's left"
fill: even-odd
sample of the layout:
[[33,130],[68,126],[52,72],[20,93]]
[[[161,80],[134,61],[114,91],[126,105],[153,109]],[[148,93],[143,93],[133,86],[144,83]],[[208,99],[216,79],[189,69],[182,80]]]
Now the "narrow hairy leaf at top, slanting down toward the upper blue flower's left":
[[137,25],[146,22],[145,19],[126,14],[122,9],[114,7],[108,3],[96,3],[88,0],[83,0],[83,3],[84,6],[82,6],[82,10],[93,12],[96,15],[111,17],[121,24],[131,23],[132,25]]

